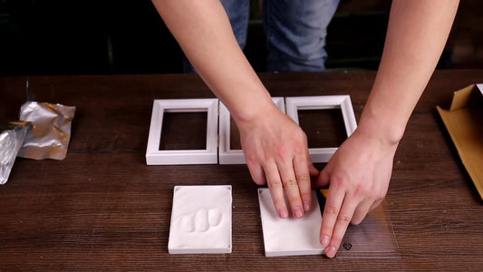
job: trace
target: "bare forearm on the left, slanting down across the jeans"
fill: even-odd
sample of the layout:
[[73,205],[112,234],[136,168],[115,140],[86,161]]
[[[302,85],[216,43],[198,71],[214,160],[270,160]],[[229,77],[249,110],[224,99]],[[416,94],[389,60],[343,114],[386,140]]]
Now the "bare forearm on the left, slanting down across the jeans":
[[153,0],[153,4],[198,74],[236,121],[250,121],[273,106],[237,44],[219,0]]

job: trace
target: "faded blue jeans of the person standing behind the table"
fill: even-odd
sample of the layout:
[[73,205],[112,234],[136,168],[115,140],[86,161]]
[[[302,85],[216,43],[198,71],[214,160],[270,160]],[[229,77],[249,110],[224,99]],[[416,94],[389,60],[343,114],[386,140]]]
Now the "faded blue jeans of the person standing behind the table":
[[[250,0],[221,0],[243,49]],[[324,71],[325,36],[339,0],[263,0],[267,71]],[[185,71],[193,72],[186,62]]]

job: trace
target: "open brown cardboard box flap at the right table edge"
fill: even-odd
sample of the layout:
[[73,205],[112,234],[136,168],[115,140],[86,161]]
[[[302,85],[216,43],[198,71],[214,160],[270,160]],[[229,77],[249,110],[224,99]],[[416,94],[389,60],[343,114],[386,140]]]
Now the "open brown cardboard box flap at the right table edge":
[[[478,88],[479,87],[479,88]],[[483,85],[471,85],[454,92],[449,110],[440,112],[459,157],[483,199]]]

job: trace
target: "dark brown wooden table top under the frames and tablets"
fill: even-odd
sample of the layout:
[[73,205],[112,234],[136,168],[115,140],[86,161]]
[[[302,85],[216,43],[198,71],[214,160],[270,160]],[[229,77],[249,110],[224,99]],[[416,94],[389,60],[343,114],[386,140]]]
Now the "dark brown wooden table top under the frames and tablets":
[[[350,94],[359,120],[374,75],[260,76],[273,96]],[[25,81],[0,78],[2,119],[17,118]],[[482,271],[482,201],[436,112],[471,83],[482,70],[436,72],[396,153],[386,203],[401,258],[354,260],[265,257],[245,165],[146,165],[153,100],[213,97],[197,75],[32,76],[36,101],[77,112],[65,160],[19,158],[0,187],[0,270]],[[233,253],[169,255],[173,186],[199,184],[233,186]]]

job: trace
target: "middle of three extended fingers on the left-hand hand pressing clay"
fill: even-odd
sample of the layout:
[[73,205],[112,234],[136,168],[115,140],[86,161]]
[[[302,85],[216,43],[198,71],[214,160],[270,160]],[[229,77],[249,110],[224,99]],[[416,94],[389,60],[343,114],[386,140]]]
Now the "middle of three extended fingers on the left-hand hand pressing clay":
[[[292,160],[290,160],[290,162],[292,162]],[[298,188],[299,184],[295,178],[294,165],[292,165],[292,163],[289,165],[279,163],[277,164],[277,167],[280,172],[280,178],[282,178],[282,184],[284,184],[286,197],[290,203],[290,208],[292,209],[292,214],[295,218],[299,219],[304,216],[304,206]],[[307,178],[308,168],[305,171],[305,178]]]

